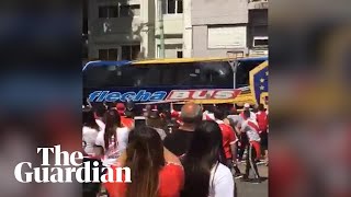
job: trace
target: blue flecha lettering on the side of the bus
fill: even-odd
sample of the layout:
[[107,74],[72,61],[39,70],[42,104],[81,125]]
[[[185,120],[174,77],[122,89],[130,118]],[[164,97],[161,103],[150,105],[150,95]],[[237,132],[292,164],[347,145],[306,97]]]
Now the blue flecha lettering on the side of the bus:
[[89,95],[89,102],[157,102],[163,101],[167,96],[167,92],[147,92],[140,90],[139,92],[110,92],[110,91],[94,91]]

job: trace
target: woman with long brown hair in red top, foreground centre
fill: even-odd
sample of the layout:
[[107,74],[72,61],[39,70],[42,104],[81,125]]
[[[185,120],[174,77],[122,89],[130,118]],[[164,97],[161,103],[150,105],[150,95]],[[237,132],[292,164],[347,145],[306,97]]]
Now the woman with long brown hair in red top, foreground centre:
[[121,166],[131,169],[132,183],[105,183],[110,197],[179,197],[183,169],[177,157],[167,152],[154,128],[132,130],[121,163]]

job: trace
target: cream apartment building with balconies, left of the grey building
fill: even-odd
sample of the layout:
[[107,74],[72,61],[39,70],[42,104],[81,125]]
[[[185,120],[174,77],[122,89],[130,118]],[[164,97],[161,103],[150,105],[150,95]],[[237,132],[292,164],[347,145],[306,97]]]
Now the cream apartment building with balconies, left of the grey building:
[[[160,56],[158,0],[89,0],[89,59]],[[182,0],[163,0],[165,54],[182,57]]]

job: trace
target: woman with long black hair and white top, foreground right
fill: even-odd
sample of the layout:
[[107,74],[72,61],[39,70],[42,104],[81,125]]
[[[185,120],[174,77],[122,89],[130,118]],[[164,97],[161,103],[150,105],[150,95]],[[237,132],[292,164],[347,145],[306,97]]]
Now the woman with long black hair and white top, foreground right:
[[216,121],[202,121],[195,129],[190,149],[182,158],[185,184],[182,197],[233,197],[230,170],[223,164],[222,131]]

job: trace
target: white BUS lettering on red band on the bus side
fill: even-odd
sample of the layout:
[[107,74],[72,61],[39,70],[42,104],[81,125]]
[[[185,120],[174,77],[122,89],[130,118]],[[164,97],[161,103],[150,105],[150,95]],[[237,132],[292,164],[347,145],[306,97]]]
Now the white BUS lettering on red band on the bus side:
[[240,90],[173,90],[166,100],[230,100],[240,93]]

